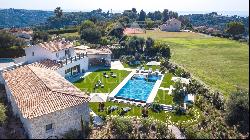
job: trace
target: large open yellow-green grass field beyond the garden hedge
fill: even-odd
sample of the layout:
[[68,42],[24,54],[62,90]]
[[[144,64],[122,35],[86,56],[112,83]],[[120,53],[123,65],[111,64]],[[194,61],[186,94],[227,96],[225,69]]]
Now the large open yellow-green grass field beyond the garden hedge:
[[224,95],[235,91],[236,86],[249,89],[249,46],[246,43],[187,32],[147,31],[138,36],[167,42],[171,61]]

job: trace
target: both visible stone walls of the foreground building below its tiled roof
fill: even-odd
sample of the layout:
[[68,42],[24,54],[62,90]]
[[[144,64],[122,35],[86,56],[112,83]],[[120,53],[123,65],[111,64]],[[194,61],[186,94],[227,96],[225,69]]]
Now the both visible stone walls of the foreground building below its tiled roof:
[[[8,102],[13,114],[20,118],[28,137],[31,139],[47,139],[50,136],[61,138],[62,134],[72,129],[81,130],[81,117],[89,122],[88,103],[55,111],[32,119],[24,118],[9,88],[5,85]],[[52,123],[52,130],[46,132],[46,125]]]

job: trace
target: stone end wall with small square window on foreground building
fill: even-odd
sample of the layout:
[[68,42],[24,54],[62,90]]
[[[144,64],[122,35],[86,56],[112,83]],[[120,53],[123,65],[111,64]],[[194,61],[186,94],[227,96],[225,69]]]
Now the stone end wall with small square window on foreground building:
[[[89,122],[88,103],[59,110],[30,120],[32,139],[47,139],[50,136],[62,138],[68,130],[81,130],[81,117]],[[52,123],[52,130],[46,131],[46,125]]]

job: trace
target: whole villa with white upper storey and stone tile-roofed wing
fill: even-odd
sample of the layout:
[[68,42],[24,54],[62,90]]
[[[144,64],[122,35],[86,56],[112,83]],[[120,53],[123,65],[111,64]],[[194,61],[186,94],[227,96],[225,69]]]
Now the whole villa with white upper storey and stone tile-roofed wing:
[[[95,49],[77,52],[71,42],[63,39],[24,50],[26,55],[20,58],[20,63],[0,70],[0,82],[5,85],[8,102],[27,136],[61,138],[70,129],[82,130],[82,123],[89,122],[89,96],[69,79],[88,70],[91,55],[90,60],[110,63],[111,52],[100,53]],[[97,53],[90,53],[93,51]]]

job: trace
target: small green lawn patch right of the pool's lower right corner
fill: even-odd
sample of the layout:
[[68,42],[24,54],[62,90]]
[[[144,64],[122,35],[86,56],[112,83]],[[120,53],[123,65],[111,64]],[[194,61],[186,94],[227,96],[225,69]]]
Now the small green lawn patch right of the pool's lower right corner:
[[166,105],[173,105],[173,97],[168,95],[168,90],[158,90],[154,102]]

